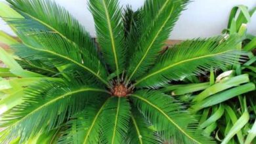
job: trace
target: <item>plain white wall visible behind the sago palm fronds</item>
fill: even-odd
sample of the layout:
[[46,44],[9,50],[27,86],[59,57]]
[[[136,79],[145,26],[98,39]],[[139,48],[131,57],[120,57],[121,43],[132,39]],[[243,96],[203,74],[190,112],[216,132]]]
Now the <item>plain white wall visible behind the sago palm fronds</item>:
[[[5,0],[0,0],[5,1]],[[93,17],[87,9],[87,0],[55,0],[66,7],[83,24],[91,35],[95,36]],[[132,5],[134,9],[140,7],[144,0],[119,0],[121,5]],[[256,7],[255,0],[194,0],[177,22],[171,39],[190,39],[194,37],[210,37],[221,33],[228,22],[232,7],[247,5],[250,9]],[[256,14],[248,26],[249,33],[256,35]],[[0,20],[0,30],[11,33],[6,24]]]

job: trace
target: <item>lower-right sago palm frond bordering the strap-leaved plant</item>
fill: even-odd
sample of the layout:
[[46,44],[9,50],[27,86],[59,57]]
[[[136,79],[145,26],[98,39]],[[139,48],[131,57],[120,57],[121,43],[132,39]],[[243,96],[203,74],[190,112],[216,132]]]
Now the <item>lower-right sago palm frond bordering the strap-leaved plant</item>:
[[213,143],[203,136],[196,120],[175,99],[158,91],[139,90],[131,94],[139,111],[170,143]]

